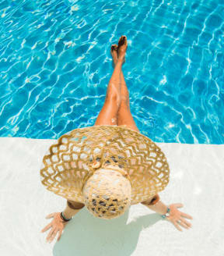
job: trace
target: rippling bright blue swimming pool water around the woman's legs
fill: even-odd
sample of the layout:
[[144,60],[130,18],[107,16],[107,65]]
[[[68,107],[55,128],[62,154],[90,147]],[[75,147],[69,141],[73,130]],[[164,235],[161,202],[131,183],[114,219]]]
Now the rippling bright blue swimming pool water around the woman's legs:
[[224,143],[222,0],[0,0],[0,137],[92,126],[125,34],[131,112],[156,142]]

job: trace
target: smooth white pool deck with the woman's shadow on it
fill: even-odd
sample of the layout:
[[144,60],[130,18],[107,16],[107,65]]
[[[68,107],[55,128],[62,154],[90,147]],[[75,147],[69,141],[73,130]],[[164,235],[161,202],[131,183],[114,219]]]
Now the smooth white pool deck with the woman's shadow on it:
[[224,145],[156,143],[170,164],[170,183],[159,195],[183,203],[191,229],[178,231],[142,204],[118,219],[102,220],[83,208],[59,242],[47,244],[50,222],[65,199],[40,183],[40,165],[56,140],[0,138],[0,254],[4,256],[223,256]]

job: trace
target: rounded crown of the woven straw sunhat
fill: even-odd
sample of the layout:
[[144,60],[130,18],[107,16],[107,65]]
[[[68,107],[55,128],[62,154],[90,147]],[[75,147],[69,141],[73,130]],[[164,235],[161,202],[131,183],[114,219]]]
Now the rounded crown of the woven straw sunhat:
[[117,218],[131,205],[131,183],[113,169],[96,170],[82,194],[89,212],[101,219]]

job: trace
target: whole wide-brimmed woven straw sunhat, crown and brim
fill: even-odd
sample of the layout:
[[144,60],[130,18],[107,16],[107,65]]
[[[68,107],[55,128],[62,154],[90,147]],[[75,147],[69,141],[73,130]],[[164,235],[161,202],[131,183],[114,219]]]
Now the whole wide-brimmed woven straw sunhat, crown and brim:
[[161,149],[125,126],[90,126],[65,133],[52,144],[40,169],[47,190],[81,202],[101,219],[122,215],[169,183]]

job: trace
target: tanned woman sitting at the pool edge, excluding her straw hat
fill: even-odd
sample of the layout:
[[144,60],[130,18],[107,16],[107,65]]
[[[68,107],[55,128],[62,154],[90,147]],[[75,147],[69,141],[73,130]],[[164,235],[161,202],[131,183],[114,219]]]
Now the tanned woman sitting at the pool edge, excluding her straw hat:
[[[128,129],[140,133],[133,117],[131,116],[128,88],[126,86],[124,75],[121,69],[125,61],[124,58],[127,48],[128,41],[127,37],[125,36],[120,37],[118,41],[118,46],[117,44],[113,44],[111,47],[111,55],[113,57],[114,62],[114,72],[110,78],[110,82],[107,87],[106,99],[103,108],[101,109],[100,114],[96,119],[95,126],[126,126],[128,127]],[[96,158],[96,161],[93,161],[93,169],[99,168],[99,166],[97,167],[97,161],[99,159]],[[111,157],[111,159],[112,161],[107,160],[107,168],[109,166],[109,169],[110,166],[112,166],[111,162],[117,162],[117,160],[115,160],[113,156]],[[121,167],[122,166],[117,166],[117,171],[122,173],[123,169]],[[114,172],[111,171],[111,175],[113,173]],[[124,173],[124,176],[127,176],[126,172]],[[125,183],[124,181],[125,180],[123,180],[123,183]],[[130,193],[130,187],[128,186],[129,183],[127,183],[127,191],[129,191],[127,193]],[[91,193],[89,194],[89,197],[90,196]],[[119,195],[117,195],[117,197],[119,197]],[[86,198],[88,198],[88,196],[86,196]],[[117,199],[113,201],[117,201]],[[183,204],[170,204],[169,207],[167,207],[165,204],[163,204],[162,201],[159,200],[159,194],[156,194],[153,197],[149,197],[147,200],[142,201],[141,203],[149,207],[151,210],[162,215],[164,219],[167,219],[170,222],[172,222],[173,225],[180,231],[182,231],[182,229],[180,229],[180,226],[183,226],[186,229],[189,229],[191,227],[191,223],[187,222],[187,220],[184,219],[193,219],[191,215],[187,215],[186,213],[180,212],[177,209],[183,207]],[[93,205],[96,205],[95,199],[93,199],[92,206]],[[51,243],[51,241],[54,240],[54,237],[57,235],[57,233],[59,240],[61,237],[62,230],[64,229],[66,223],[68,223],[68,221],[72,219],[72,216],[79,212],[79,210],[82,209],[84,206],[85,204],[83,204],[81,201],[67,200],[67,206],[64,212],[54,212],[51,213],[50,215],[47,215],[47,219],[54,218],[50,224],[48,224],[47,226],[44,227],[44,229],[41,230],[41,232],[45,232],[48,229],[50,229],[50,232],[47,236],[47,241]]]

